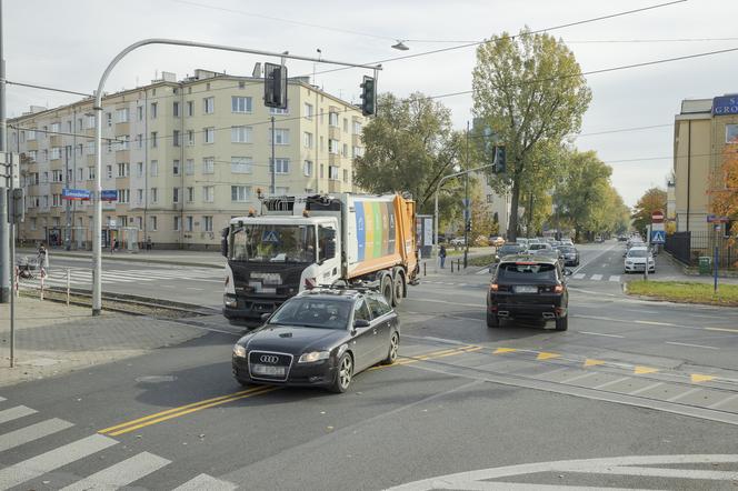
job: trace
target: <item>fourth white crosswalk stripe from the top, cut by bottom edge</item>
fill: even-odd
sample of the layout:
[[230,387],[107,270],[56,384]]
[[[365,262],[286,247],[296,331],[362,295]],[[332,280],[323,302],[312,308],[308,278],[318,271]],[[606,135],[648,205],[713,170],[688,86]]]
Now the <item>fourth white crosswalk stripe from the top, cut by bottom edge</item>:
[[153,471],[171,463],[162,457],[149,452],[138,453],[130,459],[81,479],[61,491],[86,491],[90,489],[118,489],[138,481]]

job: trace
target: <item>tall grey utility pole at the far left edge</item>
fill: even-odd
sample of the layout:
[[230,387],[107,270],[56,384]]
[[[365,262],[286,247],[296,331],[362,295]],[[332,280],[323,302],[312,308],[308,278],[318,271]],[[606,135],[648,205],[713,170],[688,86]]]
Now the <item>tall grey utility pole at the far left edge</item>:
[[[6,142],[6,57],[3,53],[2,24],[2,0],[0,0],[0,152],[6,152],[8,151]],[[3,179],[0,182],[0,303],[8,303],[10,301],[10,278],[13,274],[13,264],[10,263],[10,242],[13,238],[10,237],[10,227],[8,223],[9,187],[12,187],[12,181],[7,182]]]

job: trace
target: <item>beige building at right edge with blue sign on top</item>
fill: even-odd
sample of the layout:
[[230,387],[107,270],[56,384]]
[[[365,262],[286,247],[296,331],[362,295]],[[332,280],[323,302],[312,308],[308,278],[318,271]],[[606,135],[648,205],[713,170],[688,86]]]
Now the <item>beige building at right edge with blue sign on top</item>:
[[710,190],[725,188],[724,154],[737,147],[738,96],[681,102],[674,123],[676,231],[709,230]]

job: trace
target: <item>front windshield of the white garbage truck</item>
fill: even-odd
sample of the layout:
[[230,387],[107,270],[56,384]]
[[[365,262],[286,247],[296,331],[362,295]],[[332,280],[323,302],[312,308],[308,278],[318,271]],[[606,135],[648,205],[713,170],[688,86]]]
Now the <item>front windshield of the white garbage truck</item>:
[[247,224],[233,231],[233,261],[315,262],[313,226]]

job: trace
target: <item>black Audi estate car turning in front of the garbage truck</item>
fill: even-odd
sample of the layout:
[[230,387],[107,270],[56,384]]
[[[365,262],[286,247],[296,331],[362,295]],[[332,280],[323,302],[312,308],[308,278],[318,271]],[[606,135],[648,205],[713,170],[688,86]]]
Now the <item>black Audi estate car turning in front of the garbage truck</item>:
[[397,313],[379,292],[307,290],[238,340],[233,377],[346,392],[360,371],[395,362],[399,344]]

